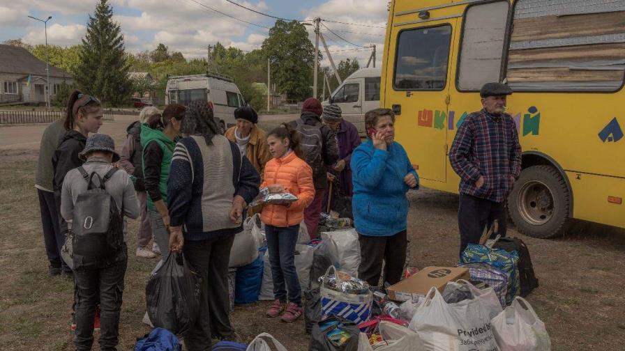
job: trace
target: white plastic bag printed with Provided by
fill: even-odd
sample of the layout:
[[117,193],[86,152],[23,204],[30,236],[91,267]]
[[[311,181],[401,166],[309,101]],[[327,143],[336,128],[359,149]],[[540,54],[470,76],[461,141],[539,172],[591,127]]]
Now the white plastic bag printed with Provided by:
[[488,309],[480,299],[447,304],[434,287],[408,327],[419,334],[428,351],[499,350],[492,334]]

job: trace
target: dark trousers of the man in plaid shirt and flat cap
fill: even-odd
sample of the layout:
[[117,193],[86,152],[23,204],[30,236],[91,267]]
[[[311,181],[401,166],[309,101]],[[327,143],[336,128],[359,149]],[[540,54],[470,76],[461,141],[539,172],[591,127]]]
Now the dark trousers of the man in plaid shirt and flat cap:
[[492,222],[499,222],[499,228],[493,235],[506,236],[506,203],[460,194],[458,205],[458,228],[460,229],[460,255],[468,244],[478,244],[484,228],[490,229]]

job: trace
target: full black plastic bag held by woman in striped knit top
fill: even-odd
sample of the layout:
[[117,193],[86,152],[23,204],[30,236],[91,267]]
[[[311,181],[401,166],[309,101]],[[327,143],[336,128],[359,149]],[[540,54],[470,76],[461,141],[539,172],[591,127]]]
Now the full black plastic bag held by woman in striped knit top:
[[170,252],[145,288],[147,311],[154,327],[184,336],[199,312],[201,282],[183,254]]

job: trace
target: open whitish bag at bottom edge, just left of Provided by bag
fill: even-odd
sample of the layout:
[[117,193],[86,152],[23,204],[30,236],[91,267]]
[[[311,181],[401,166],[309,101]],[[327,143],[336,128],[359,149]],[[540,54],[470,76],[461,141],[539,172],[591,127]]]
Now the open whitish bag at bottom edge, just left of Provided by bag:
[[383,341],[375,345],[369,344],[367,334],[359,337],[359,351],[426,351],[423,341],[414,331],[393,322],[379,322],[379,334]]

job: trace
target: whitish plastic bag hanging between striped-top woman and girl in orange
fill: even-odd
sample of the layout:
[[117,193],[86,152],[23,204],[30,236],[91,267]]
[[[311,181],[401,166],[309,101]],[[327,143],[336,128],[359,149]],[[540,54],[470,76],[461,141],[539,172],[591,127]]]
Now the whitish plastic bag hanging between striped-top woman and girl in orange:
[[262,237],[260,228],[257,226],[257,217],[259,214],[246,218],[243,222],[243,231],[234,235],[228,267],[243,267],[253,263],[258,257],[258,247]]

